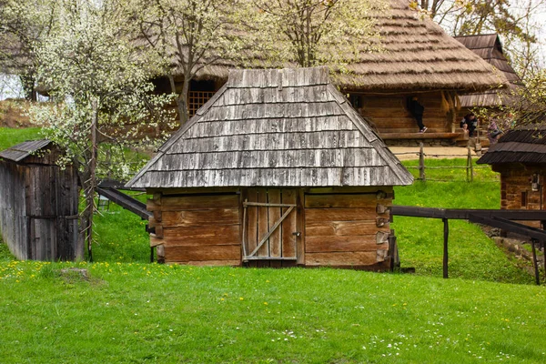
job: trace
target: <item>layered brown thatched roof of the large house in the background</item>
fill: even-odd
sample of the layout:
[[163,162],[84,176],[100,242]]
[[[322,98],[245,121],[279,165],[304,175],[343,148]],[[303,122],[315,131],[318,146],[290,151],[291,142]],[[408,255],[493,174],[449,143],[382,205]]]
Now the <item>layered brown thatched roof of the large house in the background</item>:
[[[351,91],[471,93],[508,86],[501,72],[456,41],[430,18],[420,19],[407,0],[389,0],[390,10],[373,15],[382,52],[361,52],[359,62],[337,73],[333,82]],[[260,64],[257,60],[256,64]],[[198,78],[226,79],[227,61],[203,69]],[[295,67],[296,65],[284,65]]]

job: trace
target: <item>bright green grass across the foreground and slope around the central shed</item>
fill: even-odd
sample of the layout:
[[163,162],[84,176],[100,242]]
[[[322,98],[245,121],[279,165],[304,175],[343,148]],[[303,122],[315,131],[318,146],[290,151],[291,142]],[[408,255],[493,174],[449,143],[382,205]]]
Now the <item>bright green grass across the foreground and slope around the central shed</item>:
[[[396,188],[395,202],[499,206],[490,171],[443,175],[454,182]],[[442,279],[439,220],[395,217],[402,266],[416,268],[401,275],[149,264],[144,222],[101,214],[96,263],[17,261],[0,244],[0,362],[546,360],[546,287],[465,221],[450,221]]]

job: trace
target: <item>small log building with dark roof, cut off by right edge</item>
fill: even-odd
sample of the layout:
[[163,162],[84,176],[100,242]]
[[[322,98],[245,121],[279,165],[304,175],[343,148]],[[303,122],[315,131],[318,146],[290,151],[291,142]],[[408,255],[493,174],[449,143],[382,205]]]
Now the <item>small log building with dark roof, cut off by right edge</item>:
[[508,131],[478,160],[501,174],[501,208],[546,206],[546,126]]

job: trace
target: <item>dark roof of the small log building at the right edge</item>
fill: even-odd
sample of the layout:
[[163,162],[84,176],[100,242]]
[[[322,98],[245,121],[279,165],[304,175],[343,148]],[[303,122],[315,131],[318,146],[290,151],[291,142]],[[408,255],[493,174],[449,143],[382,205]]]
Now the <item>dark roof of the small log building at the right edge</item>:
[[546,126],[522,126],[509,130],[477,163],[546,163]]

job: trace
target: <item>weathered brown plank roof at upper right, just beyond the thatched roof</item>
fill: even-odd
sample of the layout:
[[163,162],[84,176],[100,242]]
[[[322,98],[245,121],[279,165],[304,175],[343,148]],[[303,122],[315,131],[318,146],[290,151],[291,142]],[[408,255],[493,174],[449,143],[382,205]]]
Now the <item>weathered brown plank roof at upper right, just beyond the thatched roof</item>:
[[[464,35],[455,36],[455,39],[483,58],[491,66],[501,71],[510,82],[508,90],[513,90],[522,85],[520,76],[516,74],[516,71],[504,56],[499,35]],[[461,96],[460,104],[463,107],[501,106],[506,100],[506,94],[500,96],[498,90],[489,90],[479,94]]]

